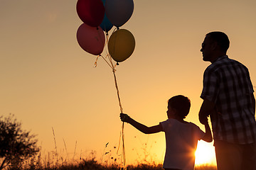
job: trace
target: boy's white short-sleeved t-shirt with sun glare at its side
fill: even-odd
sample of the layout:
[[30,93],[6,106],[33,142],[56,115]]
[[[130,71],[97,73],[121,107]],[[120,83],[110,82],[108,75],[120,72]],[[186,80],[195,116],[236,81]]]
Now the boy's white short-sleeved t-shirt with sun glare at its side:
[[205,135],[193,123],[181,123],[176,119],[161,122],[166,136],[165,169],[193,170],[198,140]]

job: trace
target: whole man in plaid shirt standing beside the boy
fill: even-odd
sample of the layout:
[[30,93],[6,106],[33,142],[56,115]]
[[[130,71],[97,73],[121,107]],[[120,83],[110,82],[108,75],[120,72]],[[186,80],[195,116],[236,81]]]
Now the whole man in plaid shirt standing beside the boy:
[[256,170],[255,97],[247,67],[226,55],[228,36],[211,32],[202,43],[203,103],[199,120],[207,116],[213,128],[218,170]]

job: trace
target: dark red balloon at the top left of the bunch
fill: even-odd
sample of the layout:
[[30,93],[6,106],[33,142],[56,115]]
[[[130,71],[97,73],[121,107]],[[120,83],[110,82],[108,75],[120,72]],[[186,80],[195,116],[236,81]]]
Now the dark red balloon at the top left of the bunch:
[[105,8],[101,0],[78,0],[77,13],[82,22],[97,27],[102,23]]

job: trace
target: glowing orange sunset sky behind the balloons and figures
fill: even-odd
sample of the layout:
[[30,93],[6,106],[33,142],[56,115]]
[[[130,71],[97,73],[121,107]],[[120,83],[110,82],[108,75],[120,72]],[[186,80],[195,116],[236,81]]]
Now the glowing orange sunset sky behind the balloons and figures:
[[[55,150],[53,128],[63,157],[66,145],[69,159],[74,152],[88,157],[95,151],[104,161],[109,155],[119,157],[114,148],[122,126],[117,91],[106,62],[99,58],[94,67],[97,56],[78,45],[82,21],[76,3],[0,0],[0,113],[13,113],[24,129],[37,134],[42,152]],[[167,118],[167,100],[183,94],[191,99],[186,121],[204,130],[198,111],[210,62],[202,60],[201,43],[210,31],[225,32],[228,56],[247,66],[256,86],[255,7],[255,0],[134,0],[134,13],[121,28],[134,35],[135,50],[116,67],[124,113],[157,125]],[[162,162],[164,132],[144,135],[125,124],[124,134],[128,164],[146,153],[147,160]],[[110,154],[102,157],[105,152]]]

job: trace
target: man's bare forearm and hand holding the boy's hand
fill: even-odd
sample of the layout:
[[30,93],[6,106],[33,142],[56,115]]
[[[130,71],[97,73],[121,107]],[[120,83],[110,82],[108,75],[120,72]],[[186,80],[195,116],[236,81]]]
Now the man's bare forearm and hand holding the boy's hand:
[[202,106],[198,114],[200,123],[202,123],[203,125],[206,125],[206,123],[208,123],[207,117],[208,115],[210,115],[210,113],[214,111],[214,107],[215,103],[213,103],[212,101],[209,101],[208,99],[203,100]]

